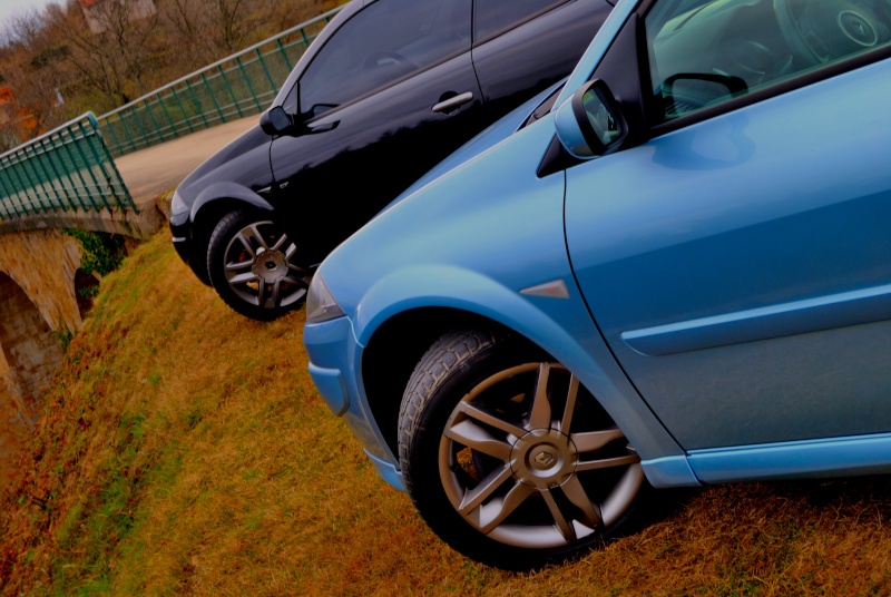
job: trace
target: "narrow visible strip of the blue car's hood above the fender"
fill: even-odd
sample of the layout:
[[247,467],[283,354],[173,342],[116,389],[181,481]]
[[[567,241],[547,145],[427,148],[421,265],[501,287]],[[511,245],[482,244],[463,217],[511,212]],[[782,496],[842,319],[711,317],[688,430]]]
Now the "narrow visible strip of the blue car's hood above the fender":
[[[501,117],[495,124],[490,125],[488,128],[483,129],[482,133],[467,141],[464,145],[459,147],[454,150],[449,157],[440,162],[438,165],[433,166],[425,175],[420,177],[418,180],[414,182],[409,188],[402,192],[395,199],[390,202],[386,207],[384,207],[380,214],[386,212],[392,206],[401,203],[403,199],[409,197],[410,195],[414,194],[420,188],[429,185],[431,182],[435,180],[437,178],[442,177],[447,173],[458,168],[462,164],[473,159],[478,155],[482,154],[483,151],[495,147],[502,140],[507,139],[522,126],[522,124],[529,118],[529,115],[535,110],[541,102],[548,99],[551,95],[557,92],[564,84],[566,84],[566,79],[561,79],[547,89],[539,92],[537,96],[532,97],[526,104],[513,109],[513,111],[508,112],[506,116]],[[379,215],[380,215],[379,214]]]

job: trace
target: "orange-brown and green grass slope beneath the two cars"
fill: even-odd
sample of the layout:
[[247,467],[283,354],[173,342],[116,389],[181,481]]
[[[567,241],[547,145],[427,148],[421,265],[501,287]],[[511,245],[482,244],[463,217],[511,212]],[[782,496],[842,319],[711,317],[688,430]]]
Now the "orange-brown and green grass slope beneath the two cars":
[[[437,539],[306,373],[303,312],[231,312],[165,233],[104,278],[2,496],[4,595],[889,595],[891,480],[655,492],[642,530],[509,574]],[[645,512],[646,513],[646,512]]]

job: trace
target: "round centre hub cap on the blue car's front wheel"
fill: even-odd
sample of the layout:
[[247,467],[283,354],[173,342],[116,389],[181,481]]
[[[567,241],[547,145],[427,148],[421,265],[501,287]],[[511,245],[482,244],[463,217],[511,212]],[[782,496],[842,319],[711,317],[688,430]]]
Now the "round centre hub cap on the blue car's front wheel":
[[565,483],[577,463],[572,440],[551,429],[533,429],[517,440],[510,452],[510,468],[517,479],[538,489]]

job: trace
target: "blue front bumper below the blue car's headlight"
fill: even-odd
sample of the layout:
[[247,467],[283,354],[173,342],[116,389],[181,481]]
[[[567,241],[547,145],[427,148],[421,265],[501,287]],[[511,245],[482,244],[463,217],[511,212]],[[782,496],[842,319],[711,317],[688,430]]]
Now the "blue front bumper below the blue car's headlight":
[[399,461],[378,428],[362,389],[363,346],[355,339],[352,322],[349,317],[339,317],[307,323],[303,329],[303,343],[310,355],[310,375],[325,403],[334,414],[343,417],[378,473],[394,488],[405,491]]

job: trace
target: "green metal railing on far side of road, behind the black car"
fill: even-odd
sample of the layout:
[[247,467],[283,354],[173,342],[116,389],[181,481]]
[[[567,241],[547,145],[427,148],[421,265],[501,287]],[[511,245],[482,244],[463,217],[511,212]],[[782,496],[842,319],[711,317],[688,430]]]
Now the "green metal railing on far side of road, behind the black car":
[[138,151],[260,114],[300,57],[343,7],[232,55],[99,117],[111,154]]

